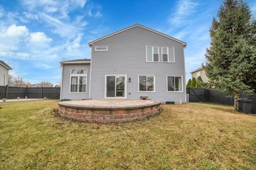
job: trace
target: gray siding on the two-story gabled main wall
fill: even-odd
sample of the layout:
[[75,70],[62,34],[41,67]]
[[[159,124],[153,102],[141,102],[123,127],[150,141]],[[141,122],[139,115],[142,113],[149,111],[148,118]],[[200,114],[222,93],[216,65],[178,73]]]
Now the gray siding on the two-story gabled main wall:
[[[99,52],[95,46],[108,46]],[[146,46],[160,47],[160,62],[146,62]],[[175,63],[162,63],[161,47],[175,48]],[[159,101],[186,101],[185,60],[183,46],[155,32],[134,27],[114,36],[102,39],[92,47],[91,98],[105,97],[105,74],[126,74],[127,99],[148,96]],[[138,92],[138,75],[155,75],[155,92]],[[166,75],[183,77],[183,92],[166,92]]]

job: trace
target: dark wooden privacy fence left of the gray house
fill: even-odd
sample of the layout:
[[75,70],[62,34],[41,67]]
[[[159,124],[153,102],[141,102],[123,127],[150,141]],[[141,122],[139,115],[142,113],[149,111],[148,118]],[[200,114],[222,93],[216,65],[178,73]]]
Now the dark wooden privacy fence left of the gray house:
[[60,98],[60,87],[12,87],[0,86],[0,99],[25,98]]

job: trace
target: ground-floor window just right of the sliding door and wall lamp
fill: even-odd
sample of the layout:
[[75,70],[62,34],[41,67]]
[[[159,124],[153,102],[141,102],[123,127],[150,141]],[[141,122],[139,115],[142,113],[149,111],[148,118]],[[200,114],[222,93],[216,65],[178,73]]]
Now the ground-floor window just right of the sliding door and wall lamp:
[[155,76],[139,75],[139,91],[155,91]]

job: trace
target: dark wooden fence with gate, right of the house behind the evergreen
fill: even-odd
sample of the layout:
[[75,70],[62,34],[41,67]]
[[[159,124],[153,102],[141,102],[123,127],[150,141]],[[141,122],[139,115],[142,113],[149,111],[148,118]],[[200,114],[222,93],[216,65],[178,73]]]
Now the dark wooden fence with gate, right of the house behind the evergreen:
[[[234,105],[234,96],[227,97],[227,94],[217,89],[187,88],[189,102],[209,102],[222,105]],[[251,98],[256,100],[256,94],[251,96],[242,94],[240,98]]]

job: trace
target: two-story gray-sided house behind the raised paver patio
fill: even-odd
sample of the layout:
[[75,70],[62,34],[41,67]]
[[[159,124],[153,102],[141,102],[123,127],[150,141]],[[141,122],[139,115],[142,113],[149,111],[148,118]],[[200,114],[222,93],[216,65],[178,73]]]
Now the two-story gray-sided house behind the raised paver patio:
[[91,41],[91,60],[60,62],[60,98],[185,102],[186,45],[140,24]]

